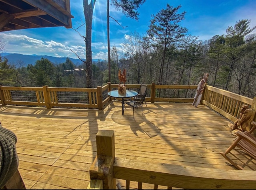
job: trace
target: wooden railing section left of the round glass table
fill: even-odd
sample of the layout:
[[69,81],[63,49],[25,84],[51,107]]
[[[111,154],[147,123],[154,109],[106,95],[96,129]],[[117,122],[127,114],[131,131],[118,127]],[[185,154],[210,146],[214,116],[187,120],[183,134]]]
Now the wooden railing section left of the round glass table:
[[78,107],[102,109],[102,89],[54,87],[5,87],[0,86],[2,105],[52,107]]

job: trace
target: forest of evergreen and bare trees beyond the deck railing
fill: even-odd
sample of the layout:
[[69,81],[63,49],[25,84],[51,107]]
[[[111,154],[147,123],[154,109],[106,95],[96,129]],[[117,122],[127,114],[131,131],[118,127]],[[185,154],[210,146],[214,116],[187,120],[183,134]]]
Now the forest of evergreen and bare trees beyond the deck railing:
[[[180,26],[185,12],[178,13],[179,8],[167,4],[152,17],[145,36],[131,33],[123,43],[125,54],[118,53],[115,46],[111,48],[110,82],[119,83],[119,69],[126,69],[129,84],[197,85],[207,72],[208,85],[250,98],[256,96],[256,27],[250,28],[250,20],[239,20],[228,26],[226,34],[203,42]],[[106,84],[108,74],[108,60],[92,64],[93,87]],[[22,67],[22,63],[14,66],[0,56],[0,84],[86,87],[86,64],[81,61],[81,65],[74,65],[68,58],[54,64],[42,58],[35,65]]]

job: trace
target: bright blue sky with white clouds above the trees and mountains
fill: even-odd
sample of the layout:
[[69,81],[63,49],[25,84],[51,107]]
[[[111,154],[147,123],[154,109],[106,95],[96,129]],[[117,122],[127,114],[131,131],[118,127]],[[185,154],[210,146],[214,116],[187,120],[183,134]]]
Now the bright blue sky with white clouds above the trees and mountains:
[[[92,23],[92,58],[107,59],[107,13],[106,0],[96,0]],[[110,0],[111,2],[111,0]],[[138,32],[146,34],[151,15],[157,14],[166,4],[177,7],[181,5],[180,13],[186,12],[181,26],[188,29],[188,34],[198,36],[199,40],[209,40],[214,35],[226,34],[228,26],[236,22],[250,19],[250,28],[256,26],[256,0],[146,0],[140,6],[138,21],[126,18],[121,11],[110,6],[110,46],[121,50],[127,36]],[[83,0],[70,0],[72,28],[76,29],[84,23]],[[79,28],[79,33],[85,36],[85,27]],[[256,33],[254,30],[253,33]],[[35,28],[0,32],[0,38],[6,43],[3,52],[21,53],[26,55],[50,55],[55,57],[72,57],[76,55],[85,58],[85,44],[80,35],[73,29],[64,27]],[[0,52],[1,53],[1,52]]]

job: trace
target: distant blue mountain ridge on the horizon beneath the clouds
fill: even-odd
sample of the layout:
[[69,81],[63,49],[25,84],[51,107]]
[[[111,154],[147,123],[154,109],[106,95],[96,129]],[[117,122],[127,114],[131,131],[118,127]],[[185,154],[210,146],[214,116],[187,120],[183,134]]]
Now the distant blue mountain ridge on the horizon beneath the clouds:
[[[35,65],[37,60],[40,60],[42,57],[49,59],[52,63],[64,63],[66,61],[67,57],[53,57],[53,56],[48,56],[48,55],[23,55],[19,53],[0,53],[2,57],[6,57],[8,59],[8,63],[12,65],[17,65],[18,62],[23,61],[22,66],[26,67],[28,64]],[[74,65],[81,65],[82,61],[80,59],[74,59],[68,57]],[[83,61],[86,61],[86,59],[82,59]],[[98,59],[92,59],[92,62],[98,61]],[[100,61],[102,61],[100,59]]]

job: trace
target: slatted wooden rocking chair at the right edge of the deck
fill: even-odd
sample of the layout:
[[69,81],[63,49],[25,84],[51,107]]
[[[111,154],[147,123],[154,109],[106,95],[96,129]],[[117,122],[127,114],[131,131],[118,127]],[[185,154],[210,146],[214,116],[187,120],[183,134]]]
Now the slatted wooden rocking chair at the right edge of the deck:
[[[241,155],[244,156],[244,152],[245,154],[248,154],[249,156],[251,156],[252,158],[254,158],[256,160],[256,138],[254,137],[254,135],[252,135],[252,132],[254,131],[254,129],[256,129],[256,122],[252,121],[252,129],[250,129],[250,131],[238,131],[236,133],[236,135],[238,136],[234,143],[231,144],[230,147],[228,147],[228,149],[226,150],[226,152],[220,152],[220,154],[226,158],[226,160],[228,160],[228,162],[230,162],[233,166],[235,166],[238,170],[244,170],[244,168],[242,166],[240,166],[239,164],[237,164],[236,162],[234,162],[233,160],[231,160],[230,157],[227,156],[228,153],[231,153],[231,150],[237,150],[236,147],[240,148],[240,150],[237,152]],[[243,152],[241,152],[241,150]],[[234,154],[233,154],[234,155]],[[246,163],[244,163],[245,165],[247,165]],[[250,166],[248,166],[250,167]]]

